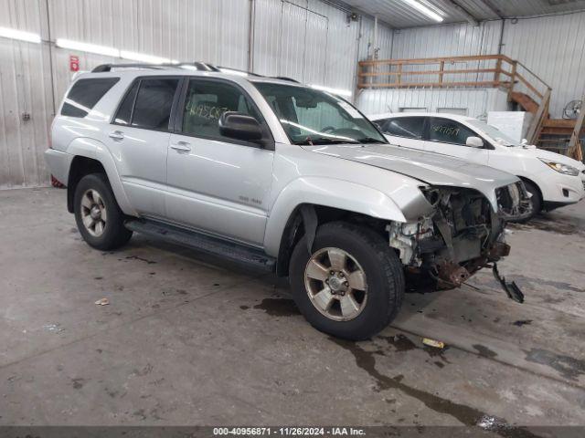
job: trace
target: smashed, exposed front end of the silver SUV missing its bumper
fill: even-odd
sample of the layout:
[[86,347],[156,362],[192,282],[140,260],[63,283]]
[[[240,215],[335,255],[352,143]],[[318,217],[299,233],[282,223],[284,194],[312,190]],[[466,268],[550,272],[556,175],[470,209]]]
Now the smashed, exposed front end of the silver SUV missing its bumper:
[[[431,278],[440,288],[461,287],[475,272],[492,267],[510,253],[505,243],[505,223],[531,213],[524,183],[517,182],[496,190],[498,210],[484,194],[462,187],[421,188],[432,206],[416,222],[387,226],[389,245],[399,250],[407,273]],[[493,264],[493,265],[490,265]],[[508,296],[522,300],[516,285],[497,276]],[[509,292],[511,290],[512,292]]]

